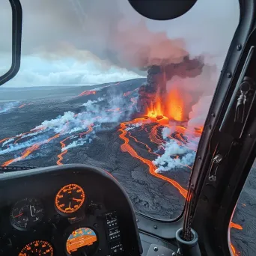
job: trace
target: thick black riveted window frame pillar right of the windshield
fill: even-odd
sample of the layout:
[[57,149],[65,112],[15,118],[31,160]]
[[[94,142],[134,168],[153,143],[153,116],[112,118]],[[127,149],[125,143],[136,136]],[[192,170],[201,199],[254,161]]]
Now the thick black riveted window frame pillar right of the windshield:
[[[240,24],[210,106],[193,169],[190,186],[195,189],[196,206],[192,227],[198,232],[201,250],[205,255],[231,255],[228,244],[229,225],[240,192],[255,161],[256,109],[253,109],[251,120],[241,139],[234,140],[231,134],[219,130],[249,49],[252,44],[256,44],[255,7],[255,0],[240,0]],[[212,113],[214,115],[211,115]],[[213,185],[208,181],[213,157],[210,148],[219,147],[219,144],[222,145],[222,152],[228,149],[230,151],[228,159],[218,168],[218,183]]]

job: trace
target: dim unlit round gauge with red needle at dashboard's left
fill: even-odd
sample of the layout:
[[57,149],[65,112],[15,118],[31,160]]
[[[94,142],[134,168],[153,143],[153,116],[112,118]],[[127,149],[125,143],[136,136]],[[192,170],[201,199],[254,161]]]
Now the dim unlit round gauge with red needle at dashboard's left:
[[43,219],[43,204],[36,198],[24,198],[14,204],[10,221],[15,228],[29,229]]

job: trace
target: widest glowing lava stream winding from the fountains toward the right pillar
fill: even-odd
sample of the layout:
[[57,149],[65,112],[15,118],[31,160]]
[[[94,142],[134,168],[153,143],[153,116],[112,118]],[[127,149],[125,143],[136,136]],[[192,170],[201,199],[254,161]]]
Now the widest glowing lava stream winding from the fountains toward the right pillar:
[[119,129],[119,131],[121,132],[121,134],[119,135],[119,138],[121,138],[124,141],[124,144],[121,144],[121,150],[123,152],[129,153],[131,156],[135,157],[136,159],[141,160],[141,162],[144,162],[144,164],[146,164],[148,166],[150,174],[152,174],[154,177],[158,177],[161,180],[165,180],[168,183],[171,183],[171,185],[173,185],[176,189],[178,189],[180,194],[183,195],[184,198],[186,198],[186,194],[187,194],[186,189],[183,189],[183,187],[180,186],[180,184],[177,183],[177,181],[171,180],[168,177],[165,177],[161,174],[156,173],[156,166],[153,165],[153,162],[151,162],[148,159],[144,159],[141,156],[138,156],[138,153],[129,145],[129,138],[126,137],[126,135],[127,135],[127,130],[126,130],[127,126],[129,124],[142,123],[142,122],[144,122],[144,118],[136,118],[133,121],[124,122],[124,123],[120,124],[121,128]]

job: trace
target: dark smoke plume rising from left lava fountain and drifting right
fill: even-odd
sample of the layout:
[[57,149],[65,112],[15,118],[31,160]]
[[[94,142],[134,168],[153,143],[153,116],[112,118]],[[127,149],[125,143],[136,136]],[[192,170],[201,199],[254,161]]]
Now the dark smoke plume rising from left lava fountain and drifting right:
[[147,70],[147,82],[138,89],[137,112],[146,113],[148,108],[156,104],[156,97],[159,97],[165,106],[167,96],[167,81],[173,76],[181,78],[195,77],[201,74],[204,62],[200,58],[183,58],[179,64],[162,64],[151,66]]

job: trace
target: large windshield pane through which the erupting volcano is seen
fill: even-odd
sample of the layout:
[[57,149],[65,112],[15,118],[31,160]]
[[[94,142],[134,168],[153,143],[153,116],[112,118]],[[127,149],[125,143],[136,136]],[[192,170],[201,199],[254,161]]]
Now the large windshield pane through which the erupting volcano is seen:
[[21,2],[21,68],[0,88],[1,165],[95,165],[136,211],[180,216],[238,1],[198,0],[165,22],[125,0]]

